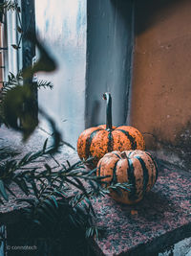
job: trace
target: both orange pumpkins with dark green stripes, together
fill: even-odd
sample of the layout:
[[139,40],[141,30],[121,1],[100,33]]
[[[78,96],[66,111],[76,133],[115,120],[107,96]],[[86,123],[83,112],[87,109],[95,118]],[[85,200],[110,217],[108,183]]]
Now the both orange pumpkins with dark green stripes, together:
[[112,126],[112,97],[105,93],[107,101],[106,125],[85,129],[77,140],[80,159],[93,157],[88,167],[96,168],[96,175],[108,186],[129,183],[130,191],[119,189],[120,194],[110,190],[111,197],[119,202],[134,204],[150,191],[158,177],[158,168],[150,153],[144,151],[145,143],[137,128]]

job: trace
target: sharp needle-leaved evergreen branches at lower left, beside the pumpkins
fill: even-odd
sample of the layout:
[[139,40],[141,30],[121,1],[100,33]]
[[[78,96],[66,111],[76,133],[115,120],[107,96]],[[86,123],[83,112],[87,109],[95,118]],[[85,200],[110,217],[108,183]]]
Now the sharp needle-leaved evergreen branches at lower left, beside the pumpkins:
[[[9,201],[10,194],[17,198],[11,191],[11,184],[14,183],[26,196],[32,195],[32,198],[17,198],[18,201],[25,201],[31,206],[25,211],[28,219],[31,218],[44,226],[46,220],[51,219],[55,223],[58,212],[68,211],[68,218],[75,226],[84,228],[87,225],[88,228],[91,226],[95,229],[95,213],[90,198],[98,194],[100,177],[96,180],[92,172],[85,171],[81,161],[73,165],[68,162],[67,166],[63,163],[55,167],[50,166],[45,160],[47,156],[52,157],[49,154],[51,150],[47,147],[46,140],[40,151],[29,152],[21,159],[1,162],[0,202]],[[85,188],[81,180],[91,180],[89,189]]]

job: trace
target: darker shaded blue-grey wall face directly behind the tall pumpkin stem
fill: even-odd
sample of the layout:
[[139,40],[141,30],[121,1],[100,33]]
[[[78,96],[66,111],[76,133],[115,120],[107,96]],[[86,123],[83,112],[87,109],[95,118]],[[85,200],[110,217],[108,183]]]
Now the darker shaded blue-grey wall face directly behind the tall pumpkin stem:
[[115,126],[126,123],[133,52],[133,1],[87,2],[86,127],[105,124],[106,91],[113,97]]

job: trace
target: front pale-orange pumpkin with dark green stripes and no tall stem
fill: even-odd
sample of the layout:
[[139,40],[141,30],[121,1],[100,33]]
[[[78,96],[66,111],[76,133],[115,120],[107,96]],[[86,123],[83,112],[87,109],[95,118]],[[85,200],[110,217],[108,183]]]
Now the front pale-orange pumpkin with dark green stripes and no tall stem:
[[106,176],[108,185],[131,184],[130,191],[119,189],[120,194],[110,190],[111,197],[119,202],[133,204],[151,190],[158,178],[158,167],[149,152],[112,151],[105,154],[97,164],[96,175]]

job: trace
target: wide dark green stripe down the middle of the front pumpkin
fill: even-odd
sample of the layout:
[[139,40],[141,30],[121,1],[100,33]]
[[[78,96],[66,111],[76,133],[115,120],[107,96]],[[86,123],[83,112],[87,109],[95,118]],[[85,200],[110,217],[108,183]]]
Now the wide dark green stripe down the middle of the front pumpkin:
[[128,161],[127,176],[128,176],[129,184],[131,184],[129,199],[136,200],[138,199],[138,195],[137,195],[137,188],[136,188],[136,176],[134,174],[134,165],[133,165],[133,161],[130,158],[127,158],[127,161]]

